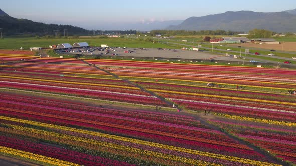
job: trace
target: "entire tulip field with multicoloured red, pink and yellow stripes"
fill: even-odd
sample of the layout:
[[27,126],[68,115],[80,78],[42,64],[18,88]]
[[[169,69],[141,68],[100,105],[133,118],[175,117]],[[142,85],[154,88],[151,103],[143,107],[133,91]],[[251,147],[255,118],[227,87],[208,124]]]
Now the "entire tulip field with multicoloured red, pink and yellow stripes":
[[296,71],[0,61],[2,156],[41,165],[296,164],[296,95],[288,93]]

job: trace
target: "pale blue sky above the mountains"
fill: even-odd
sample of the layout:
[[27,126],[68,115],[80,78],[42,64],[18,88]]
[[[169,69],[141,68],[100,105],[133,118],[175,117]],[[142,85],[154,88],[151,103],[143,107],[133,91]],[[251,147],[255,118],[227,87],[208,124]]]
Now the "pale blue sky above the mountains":
[[87,29],[112,24],[184,20],[226,11],[277,12],[296,9],[294,0],[3,0],[12,17],[71,24]]

